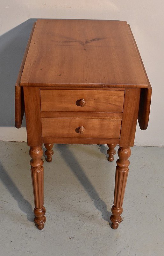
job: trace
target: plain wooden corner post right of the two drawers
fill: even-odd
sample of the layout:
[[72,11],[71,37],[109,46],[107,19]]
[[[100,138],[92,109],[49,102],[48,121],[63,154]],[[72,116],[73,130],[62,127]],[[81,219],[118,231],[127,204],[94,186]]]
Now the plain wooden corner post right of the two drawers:
[[120,147],[134,146],[139,111],[140,89],[125,89],[124,110],[121,124]]

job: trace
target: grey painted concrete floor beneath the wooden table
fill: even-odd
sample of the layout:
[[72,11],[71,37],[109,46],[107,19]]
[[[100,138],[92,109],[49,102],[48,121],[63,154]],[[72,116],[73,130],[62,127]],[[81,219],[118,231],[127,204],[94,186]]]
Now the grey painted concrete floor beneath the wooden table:
[[123,221],[116,230],[108,222],[118,156],[108,162],[107,149],[54,145],[53,162],[43,158],[47,220],[38,230],[29,147],[1,141],[1,255],[163,256],[164,148],[132,148]]

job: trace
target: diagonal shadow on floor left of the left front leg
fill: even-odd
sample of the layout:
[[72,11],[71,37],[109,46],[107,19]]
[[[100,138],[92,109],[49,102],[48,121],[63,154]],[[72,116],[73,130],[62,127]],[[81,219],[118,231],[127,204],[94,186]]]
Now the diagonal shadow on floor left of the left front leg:
[[5,171],[2,164],[0,164],[0,179],[2,180],[4,186],[10,192],[11,196],[13,196],[15,200],[17,200],[19,209],[22,212],[25,212],[25,214],[27,215],[27,220],[33,222],[34,214],[31,204],[22,196],[19,189],[16,187],[9,174]]

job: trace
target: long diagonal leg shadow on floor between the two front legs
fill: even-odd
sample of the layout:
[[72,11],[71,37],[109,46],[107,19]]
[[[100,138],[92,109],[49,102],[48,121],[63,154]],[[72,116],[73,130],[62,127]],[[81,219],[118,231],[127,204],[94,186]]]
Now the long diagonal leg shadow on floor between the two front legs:
[[77,161],[74,161],[75,157],[68,148],[67,145],[64,145],[65,150],[67,151],[67,154],[63,152],[63,145],[58,144],[57,148],[60,150],[62,158],[65,160],[65,162],[69,165],[71,171],[74,173],[74,175],[77,177],[77,179],[80,181],[90,198],[93,200],[93,203],[97,210],[102,212],[102,218],[109,223],[111,212],[108,212],[107,206],[105,202],[99,197],[98,193],[96,192],[95,188],[91,184],[90,180],[86,176],[85,172],[82,170],[82,167],[80,164],[77,163]]

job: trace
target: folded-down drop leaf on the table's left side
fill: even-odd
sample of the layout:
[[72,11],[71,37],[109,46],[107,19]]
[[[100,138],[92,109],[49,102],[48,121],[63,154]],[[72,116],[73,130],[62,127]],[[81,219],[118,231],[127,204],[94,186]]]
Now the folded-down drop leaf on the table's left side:
[[34,24],[33,24],[32,31],[31,31],[30,37],[28,39],[28,43],[27,43],[27,46],[26,46],[26,49],[25,49],[25,53],[24,53],[24,56],[23,56],[23,60],[22,60],[22,63],[21,63],[20,69],[19,69],[18,78],[17,78],[16,85],[15,85],[15,127],[16,128],[21,127],[23,116],[24,116],[24,113],[25,113],[23,88],[20,87],[20,79],[21,79],[21,76],[22,76],[23,68],[24,68],[24,65],[25,65],[25,60],[26,60],[26,57],[27,57],[27,53],[28,53],[28,50],[29,50],[30,43],[31,43],[32,34],[33,34],[33,31],[34,31],[34,28],[35,28],[35,24],[36,24],[36,22],[34,22]]

